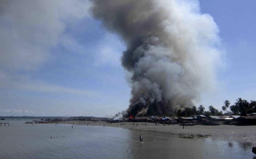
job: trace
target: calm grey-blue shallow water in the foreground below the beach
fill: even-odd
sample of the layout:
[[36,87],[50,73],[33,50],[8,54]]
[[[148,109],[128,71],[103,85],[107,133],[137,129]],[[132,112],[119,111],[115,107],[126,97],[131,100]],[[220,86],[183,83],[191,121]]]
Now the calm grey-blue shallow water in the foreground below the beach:
[[[24,124],[0,127],[0,159],[252,159],[251,145],[212,139],[182,139],[170,133],[102,126]],[[139,143],[143,133],[144,143]]]

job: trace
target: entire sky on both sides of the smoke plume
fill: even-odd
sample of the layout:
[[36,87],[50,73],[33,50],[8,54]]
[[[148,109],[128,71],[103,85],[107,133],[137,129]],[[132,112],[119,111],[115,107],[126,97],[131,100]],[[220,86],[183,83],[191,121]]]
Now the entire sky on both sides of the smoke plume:
[[[122,39],[91,17],[90,2],[0,2],[0,116],[110,117],[129,106]],[[219,27],[223,64],[206,108],[256,100],[256,1],[199,0]],[[219,61],[216,61],[219,62]],[[202,75],[203,76],[203,75]]]

